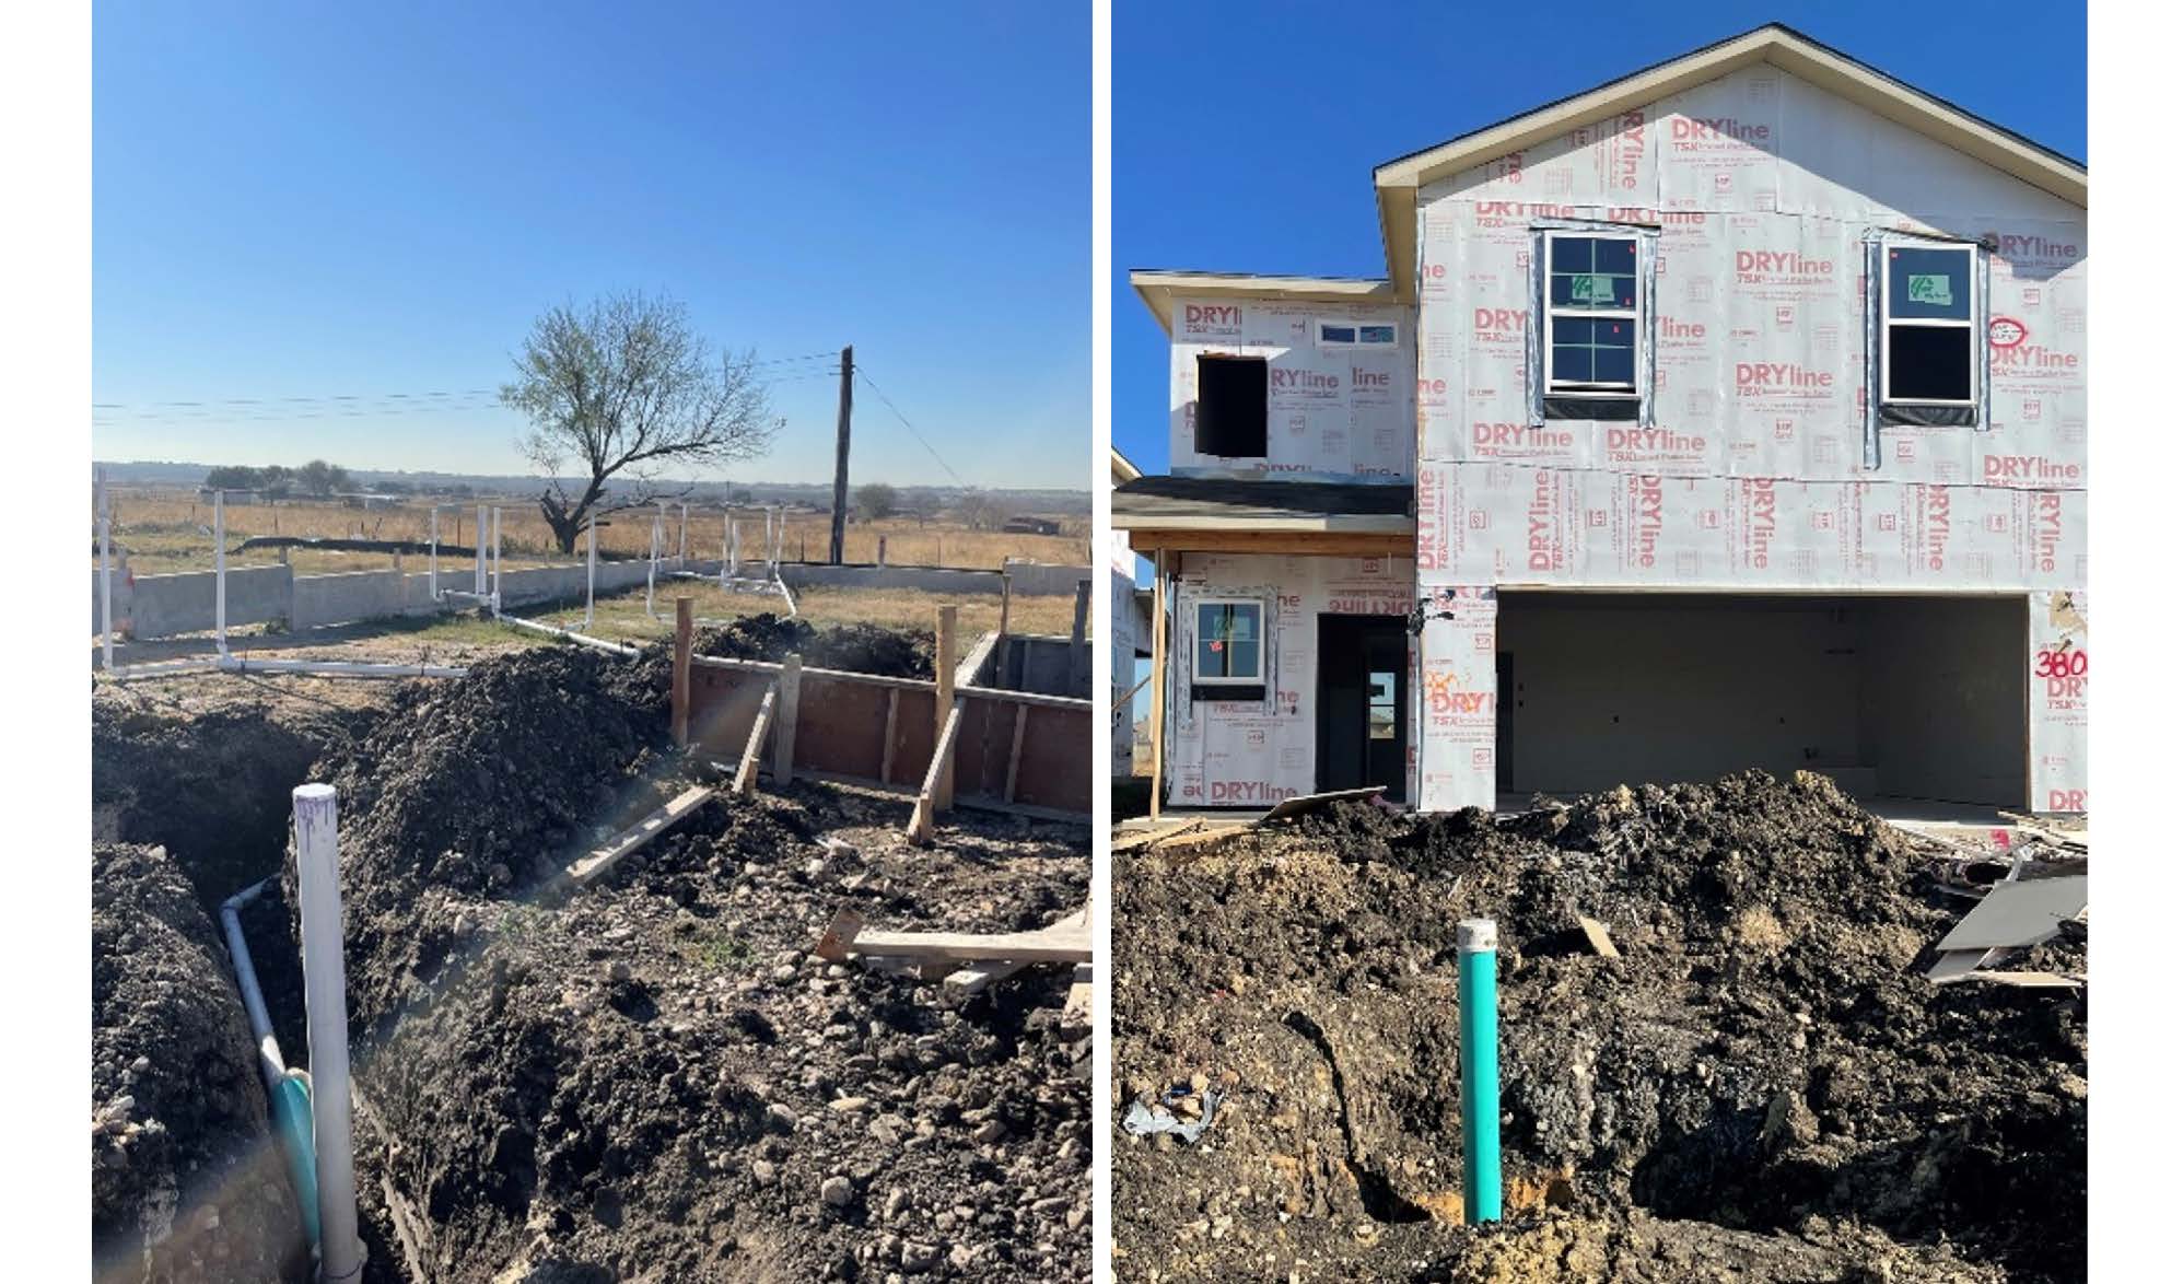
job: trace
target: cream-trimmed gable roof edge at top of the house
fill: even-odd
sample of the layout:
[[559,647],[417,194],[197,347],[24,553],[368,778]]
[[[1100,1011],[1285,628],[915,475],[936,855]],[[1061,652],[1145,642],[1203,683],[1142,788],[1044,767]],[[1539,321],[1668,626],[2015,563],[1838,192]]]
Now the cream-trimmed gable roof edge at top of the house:
[[1679,59],[1631,72],[1618,81],[1548,103],[1484,129],[1474,129],[1439,146],[1415,151],[1373,170],[1380,197],[1380,240],[1386,247],[1388,280],[1401,301],[1417,297],[1417,188],[1463,173],[1493,157],[1524,151],[1631,107],[1655,103],[1692,85],[1716,81],[1753,63],[1773,63],[1792,76],[1827,90],[1895,124],[1923,133],[1954,151],[2085,207],[2085,164],[2041,146],[1936,98],[1914,85],[1818,44],[1801,31],[1768,22]]

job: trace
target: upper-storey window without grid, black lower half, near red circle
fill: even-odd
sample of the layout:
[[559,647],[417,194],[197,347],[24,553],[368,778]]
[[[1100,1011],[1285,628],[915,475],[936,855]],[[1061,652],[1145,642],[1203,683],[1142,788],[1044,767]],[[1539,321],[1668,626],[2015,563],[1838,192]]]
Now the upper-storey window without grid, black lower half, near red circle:
[[1882,271],[1880,400],[1978,404],[1976,247],[1888,245]]

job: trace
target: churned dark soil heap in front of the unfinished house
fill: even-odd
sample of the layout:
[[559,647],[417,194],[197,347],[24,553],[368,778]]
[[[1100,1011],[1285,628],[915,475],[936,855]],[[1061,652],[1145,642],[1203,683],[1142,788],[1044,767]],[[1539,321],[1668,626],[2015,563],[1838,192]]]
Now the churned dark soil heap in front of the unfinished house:
[[[1757,1280],[2083,1280],[2083,1004],[1923,980],[1963,906],[1816,775],[1118,856],[1118,1103],[1227,1085],[1194,1146],[1118,1131],[1122,1277],[1670,1280],[1735,1243]],[[1530,1229],[1450,1225],[1463,917],[1500,924]]]

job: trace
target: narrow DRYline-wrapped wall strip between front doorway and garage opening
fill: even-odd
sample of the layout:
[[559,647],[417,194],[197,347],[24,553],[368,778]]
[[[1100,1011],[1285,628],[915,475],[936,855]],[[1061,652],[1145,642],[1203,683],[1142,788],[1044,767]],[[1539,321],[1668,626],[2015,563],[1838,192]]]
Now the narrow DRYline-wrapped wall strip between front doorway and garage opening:
[[1425,592],[1419,633],[1417,804],[1428,812],[1493,810],[1495,590],[1450,585]]

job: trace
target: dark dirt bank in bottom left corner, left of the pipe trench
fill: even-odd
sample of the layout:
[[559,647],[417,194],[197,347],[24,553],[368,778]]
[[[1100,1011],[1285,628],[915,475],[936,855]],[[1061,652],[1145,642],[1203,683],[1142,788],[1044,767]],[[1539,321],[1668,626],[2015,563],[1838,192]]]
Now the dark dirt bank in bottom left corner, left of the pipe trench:
[[92,1256],[100,1280],[295,1280],[301,1223],[251,1031],[190,882],[92,847]]

